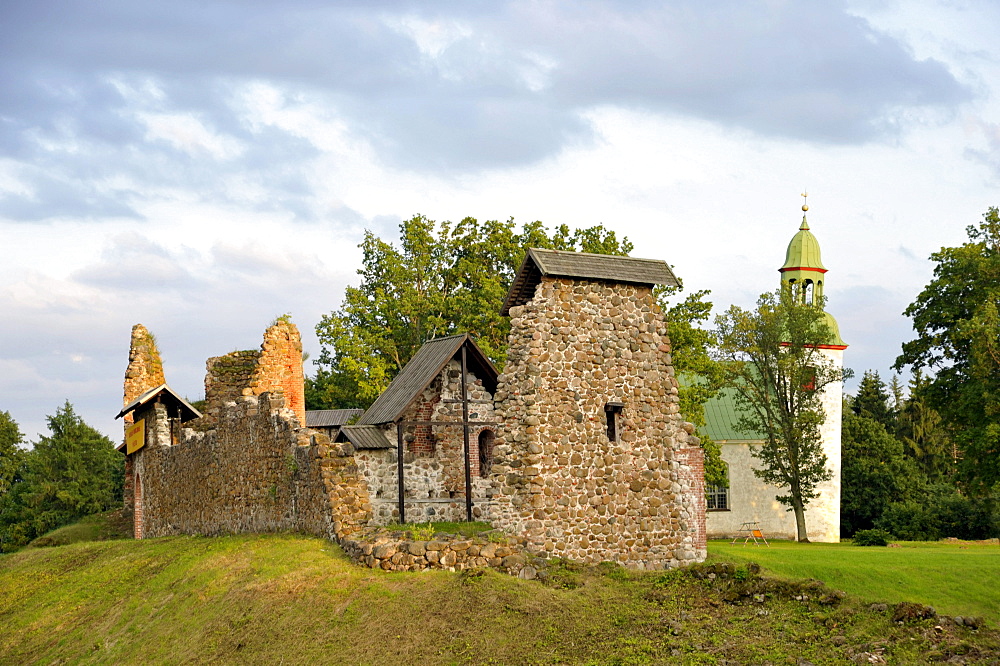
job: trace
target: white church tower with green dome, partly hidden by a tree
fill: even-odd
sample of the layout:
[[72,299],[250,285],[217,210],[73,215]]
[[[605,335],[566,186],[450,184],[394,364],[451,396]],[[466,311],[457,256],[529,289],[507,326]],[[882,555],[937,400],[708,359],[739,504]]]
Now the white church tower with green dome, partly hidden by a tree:
[[[827,269],[820,258],[819,241],[809,230],[809,223],[806,221],[808,210],[809,206],[803,204],[802,224],[788,243],[785,263],[778,271],[781,273],[782,289],[791,291],[798,303],[823,307]],[[840,338],[837,320],[828,312],[824,314],[830,335],[826,344],[819,345],[819,351],[839,370],[844,367],[844,350],[847,345]],[[823,452],[833,477],[817,486],[819,496],[806,507],[806,524],[809,538],[813,541],[840,541],[840,424],[843,393],[843,382],[833,382],[823,389],[822,404],[826,414],[822,427]]]

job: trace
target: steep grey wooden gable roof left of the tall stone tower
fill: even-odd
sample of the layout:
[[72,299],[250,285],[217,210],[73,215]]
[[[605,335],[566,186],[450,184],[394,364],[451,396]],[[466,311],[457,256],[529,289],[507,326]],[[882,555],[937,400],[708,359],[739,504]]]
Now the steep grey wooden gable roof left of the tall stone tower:
[[378,425],[398,421],[418,395],[441,374],[449,361],[466,349],[468,368],[482,380],[490,393],[496,393],[499,373],[486,354],[468,333],[450,335],[425,342],[410,362],[392,380],[382,395],[358,419],[358,425]]

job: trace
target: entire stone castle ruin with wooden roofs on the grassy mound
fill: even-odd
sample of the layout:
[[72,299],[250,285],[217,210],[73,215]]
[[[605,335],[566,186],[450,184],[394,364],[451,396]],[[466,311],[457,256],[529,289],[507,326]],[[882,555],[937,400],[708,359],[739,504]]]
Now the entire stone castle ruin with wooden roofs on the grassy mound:
[[[287,318],[260,351],[209,359],[204,415],[137,325],[119,413],[135,535],[296,530],[368,566],[522,574],[515,550],[636,569],[704,559],[702,450],[679,413],[656,284],[676,284],[665,262],[531,249],[503,306],[502,373],[466,334],[431,340],[332,438],[306,427]],[[514,546],[371,537],[466,519]]]

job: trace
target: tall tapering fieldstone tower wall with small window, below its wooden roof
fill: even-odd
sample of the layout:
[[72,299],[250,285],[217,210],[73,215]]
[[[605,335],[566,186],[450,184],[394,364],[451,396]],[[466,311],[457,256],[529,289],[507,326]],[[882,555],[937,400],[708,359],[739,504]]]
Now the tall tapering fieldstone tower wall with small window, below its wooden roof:
[[[705,557],[663,315],[648,287],[542,278],[511,308],[493,524],[530,548],[659,569]],[[617,417],[605,411],[623,403]],[[609,439],[608,418],[617,418]]]

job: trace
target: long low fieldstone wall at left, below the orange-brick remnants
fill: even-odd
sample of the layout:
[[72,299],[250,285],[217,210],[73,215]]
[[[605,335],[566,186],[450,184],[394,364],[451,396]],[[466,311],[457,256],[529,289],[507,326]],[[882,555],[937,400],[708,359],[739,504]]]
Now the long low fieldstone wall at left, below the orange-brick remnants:
[[148,443],[130,457],[142,480],[143,536],[300,530],[340,539],[370,518],[350,452],[300,428],[281,394],[242,397],[215,430],[186,429],[176,446],[169,430],[161,436],[162,406],[140,416]]

